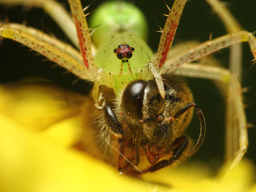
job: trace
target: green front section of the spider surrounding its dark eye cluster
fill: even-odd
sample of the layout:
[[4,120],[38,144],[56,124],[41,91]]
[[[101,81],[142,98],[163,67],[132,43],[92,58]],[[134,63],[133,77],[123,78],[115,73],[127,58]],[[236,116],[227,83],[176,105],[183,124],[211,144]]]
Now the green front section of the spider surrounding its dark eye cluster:
[[[123,63],[113,52],[118,45],[122,44],[128,44],[135,48],[128,63]],[[132,33],[111,35],[110,40],[99,47],[98,53],[94,57],[96,67],[103,68],[105,72],[105,74],[102,74],[101,84],[113,88],[115,92],[118,91],[118,88],[125,82],[137,79],[140,76],[140,70],[149,62],[152,55],[153,52],[146,42]]]

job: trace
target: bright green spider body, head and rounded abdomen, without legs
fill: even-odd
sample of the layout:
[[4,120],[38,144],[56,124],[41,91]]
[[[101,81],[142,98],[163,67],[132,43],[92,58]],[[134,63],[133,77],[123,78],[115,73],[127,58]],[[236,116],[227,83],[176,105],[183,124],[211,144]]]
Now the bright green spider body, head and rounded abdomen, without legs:
[[[95,66],[103,68],[101,84],[117,93],[123,84],[137,79],[141,69],[153,56],[144,39],[147,24],[142,12],[124,1],[111,1],[101,5],[91,18],[91,26],[99,25],[92,39],[98,46]],[[113,52],[119,45],[135,48],[128,62],[122,62]],[[126,60],[126,58],[124,58]]]

